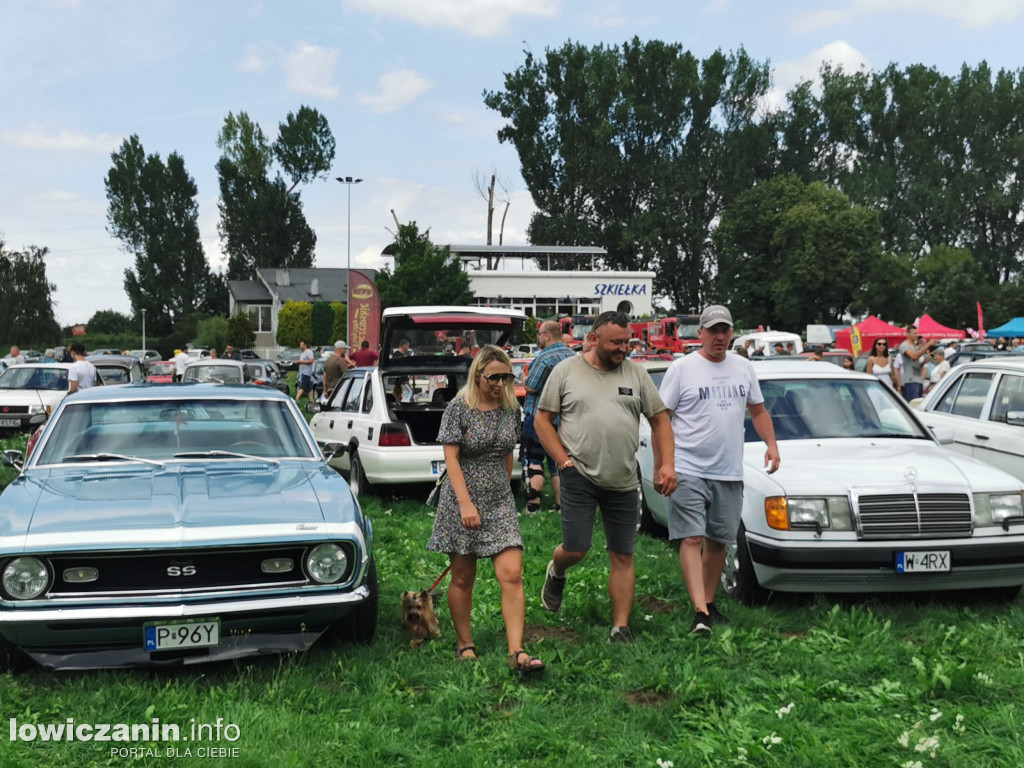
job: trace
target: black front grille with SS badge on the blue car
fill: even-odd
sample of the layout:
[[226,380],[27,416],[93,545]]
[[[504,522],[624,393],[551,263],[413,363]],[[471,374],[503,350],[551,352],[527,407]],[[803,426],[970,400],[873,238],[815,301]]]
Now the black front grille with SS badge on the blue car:
[[[355,547],[338,542],[348,558],[348,567],[338,584],[352,578]],[[83,552],[50,556],[53,569],[51,598],[92,598],[160,594],[202,594],[224,590],[267,590],[311,584],[303,568],[314,545],[283,544],[271,547],[218,548],[209,550],[160,550],[148,552]],[[290,570],[264,572],[265,561],[291,560]],[[74,575],[94,568],[98,578],[80,582]]]

